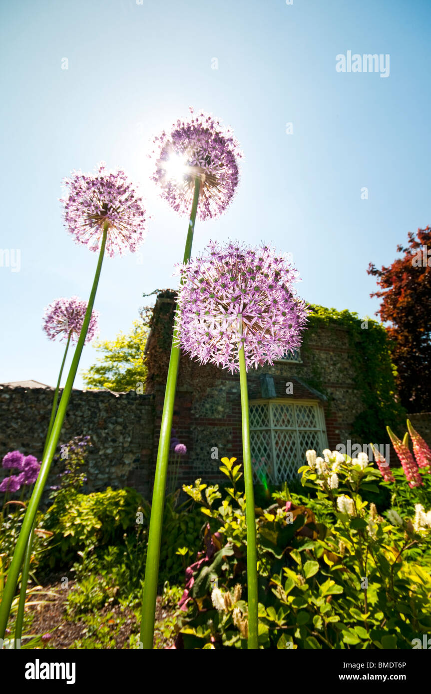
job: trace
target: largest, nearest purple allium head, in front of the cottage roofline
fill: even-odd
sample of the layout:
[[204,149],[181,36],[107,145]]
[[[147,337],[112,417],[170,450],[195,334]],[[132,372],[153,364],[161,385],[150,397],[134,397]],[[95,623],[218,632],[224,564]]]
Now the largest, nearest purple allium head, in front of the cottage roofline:
[[176,344],[201,364],[238,371],[239,342],[247,368],[273,364],[298,349],[310,311],[296,296],[298,273],[285,255],[268,246],[210,242],[206,253],[178,272]]

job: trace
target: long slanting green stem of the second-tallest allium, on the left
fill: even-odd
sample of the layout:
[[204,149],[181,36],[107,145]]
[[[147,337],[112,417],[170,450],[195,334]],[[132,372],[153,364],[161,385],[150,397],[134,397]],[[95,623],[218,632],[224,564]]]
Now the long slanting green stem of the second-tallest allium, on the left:
[[78,344],[76,345],[76,350],[71,362],[65,388],[62,392],[60,405],[58,405],[58,412],[53,423],[53,428],[51,430],[51,435],[47,443],[47,448],[45,449],[44,455],[42,456],[42,466],[40,468],[40,473],[35,482],[31,499],[28,502],[28,507],[26,510],[26,515],[24,516],[24,521],[22,522],[22,528],[21,532],[19,533],[17,546],[15,547],[15,552],[13,554],[12,561],[10,562],[10,566],[8,569],[8,580],[6,581],[6,586],[3,591],[3,600],[0,604],[0,638],[4,638],[6,626],[8,624],[10,607],[12,605],[12,600],[15,595],[15,590],[17,588],[19,571],[21,570],[28,539],[31,535],[31,530],[35,521],[37,507],[40,504],[40,498],[42,497],[44,486],[47,483],[49,468],[51,467],[51,462],[54,453],[56,452],[58,439],[60,438],[62,425],[65,420],[67,405],[69,403],[69,397],[71,395],[71,391],[74,385],[76,371],[78,371],[79,360],[81,359],[81,353],[83,351],[85,337],[87,337],[88,326],[90,325],[90,319],[94,305],[94,298],[96,298],[97,285],[99,284],[103,255],[105,253],[107,235],[108,223],[105,223],[105,225],[103,226],[103,235],[101,241],[101,248],[99,252],[99,260],[97,262],[92,291],[90,293],[90,299],[88,300],[87,311],[85,312],[84,316],[83,327],[81,328],[81,333],[78,338]]

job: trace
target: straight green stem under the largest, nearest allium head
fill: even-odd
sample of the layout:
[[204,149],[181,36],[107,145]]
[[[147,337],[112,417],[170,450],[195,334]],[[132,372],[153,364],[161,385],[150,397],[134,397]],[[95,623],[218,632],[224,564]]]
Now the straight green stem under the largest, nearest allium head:
[[[242,322],[241,322],[242,325]],[[242,332],[242,331],[241,331]],[[251,466],[250,425],[248,422],[247,371],[244,346],[238,348],[239,384],[241,389],[242,417],[242,457],[244,461],[244,486],[246,491],[246,525],[247,525],[247,604],[248,604],[248,638],[247,648],[257,649],[257,557],[256,557],[256,521],[255,496],[253,492],[253,468]]]

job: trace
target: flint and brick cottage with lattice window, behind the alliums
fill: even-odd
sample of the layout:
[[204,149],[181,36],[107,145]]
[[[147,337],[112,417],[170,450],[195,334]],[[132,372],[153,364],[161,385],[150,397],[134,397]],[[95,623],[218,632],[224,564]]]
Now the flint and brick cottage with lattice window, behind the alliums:
[[[154,458],[169,363],[174,296],[169,290],[158,295],[146,347],[146,393],[153,394],[155,405]],[[374,377],[375,366],[368,364],[368,373],[364,368],[366,349],[376,337],[381,351],[378,379]],[[273,484],[289,481],[304,463],[307,449],[334,450],[340,442],[348,445],[348,441],[362,446],[370,443],[367,437],[377,435],[379,426],[380,439],[374,438],[373,443],[387,441],[384,414],[374,414],[370,409],[374,401],[376,413],[386,408],[389,418],[396,414],[394,400],[379,394],[382,382],[391,383],[393,390],[391,362],[380,324],[371,319],[361,321],[348,312],[337,316],[333,310],[316,307],[300,350],[285,354],[273,366],[248,371],[255,480]],[[381,421],[377,422],[376,417]],[[369,419],[377,424],[374,431],[364,430]],[[218,466],[223,456],[235,456],[242,462],[238,375],[181,355],[174,428],[188,452],[178,482],[196,477],[205,481],[220,479]]]

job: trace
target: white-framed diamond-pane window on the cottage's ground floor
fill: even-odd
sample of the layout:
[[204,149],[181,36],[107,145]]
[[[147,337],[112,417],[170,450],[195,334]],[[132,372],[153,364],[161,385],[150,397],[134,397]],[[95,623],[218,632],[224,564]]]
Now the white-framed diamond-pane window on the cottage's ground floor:
[[250,403],[250,443],[255,481],[289,482],[306,450],[328,448],[323,409],[309,400]]

